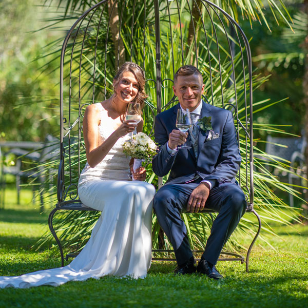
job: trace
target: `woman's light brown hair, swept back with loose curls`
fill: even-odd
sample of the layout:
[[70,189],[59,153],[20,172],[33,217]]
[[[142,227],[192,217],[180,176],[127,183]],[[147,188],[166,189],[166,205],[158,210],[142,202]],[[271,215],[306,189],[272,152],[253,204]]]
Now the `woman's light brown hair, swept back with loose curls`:
[[133,73],[133,75],[138,81],[138,93],[136,95],[136,98],[134,98],[132,102],[139,103],[142,109],[144,107],[144,100],[148,97],[148,95],[144,91],[145,74],[143,69],[138,64],[133,62],[125,62],[123,65],[120,66],[117,74],[115,74],[113,78],[113,92],[115,93],[115,89],[117,88],[123,73],[126,71]]

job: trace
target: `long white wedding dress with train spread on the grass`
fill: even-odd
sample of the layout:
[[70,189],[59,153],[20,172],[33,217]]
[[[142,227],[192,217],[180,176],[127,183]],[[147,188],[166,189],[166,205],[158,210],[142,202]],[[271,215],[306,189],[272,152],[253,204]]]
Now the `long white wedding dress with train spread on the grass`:
[[[101,114],[99,138],[103,142],[114,131],[114,120],[98,103]],[[131,181],[130,157],[122,152],[127,136],[120,138],[94,168],[88,163],[78,185],[85,206],[102,211],[81,253],[64,267],[45,269],[22,276],[0,277],[0,288],[61,285],[113,275],[143,278],[151,262],[151,217],[155,188]]]

